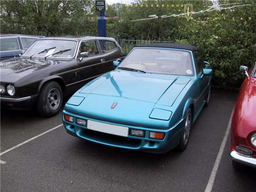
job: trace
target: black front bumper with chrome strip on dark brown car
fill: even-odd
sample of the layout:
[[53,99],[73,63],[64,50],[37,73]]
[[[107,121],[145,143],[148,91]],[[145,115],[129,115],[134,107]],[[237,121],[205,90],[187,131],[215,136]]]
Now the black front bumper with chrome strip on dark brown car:
[[38,95],[21,97],[21,98],[10,98],[0,97],[1,108],[8,109],[31,109],[37,100]]

